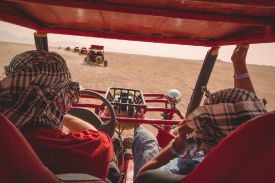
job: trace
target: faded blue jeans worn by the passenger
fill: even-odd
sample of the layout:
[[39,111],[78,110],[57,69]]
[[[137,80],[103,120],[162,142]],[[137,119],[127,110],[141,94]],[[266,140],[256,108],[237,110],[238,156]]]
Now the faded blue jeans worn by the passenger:
[[[163,165],[158,168],[158,170],[180,175],[189,174],[204,159],[204,155],[201,153],[196,153],[195,156],[190,155],[190,150],[194,147],[195,146],[191,146],[187,150],[186,160],[175,158],[167,165]],[[157,140],[151,132],[147,131],[143,127],[139,127],[135,130],[134,141],[132,144],[132,154],[134,158],[133,179],[136,178],[136,175],[141,167],[154,158],[159,153],[159,151],[160,149]]]

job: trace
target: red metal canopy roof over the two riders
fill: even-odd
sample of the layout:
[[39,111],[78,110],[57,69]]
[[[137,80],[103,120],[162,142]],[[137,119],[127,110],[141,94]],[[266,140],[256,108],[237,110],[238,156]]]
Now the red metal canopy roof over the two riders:
[[275,1],[9,0],[0,20],[55,33],[197,46],[275,42]]

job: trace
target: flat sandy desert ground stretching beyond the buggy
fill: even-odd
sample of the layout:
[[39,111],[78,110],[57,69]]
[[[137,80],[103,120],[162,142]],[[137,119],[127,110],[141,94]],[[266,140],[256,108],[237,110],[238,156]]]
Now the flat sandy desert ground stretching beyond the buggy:
[[[0,42],[0,79],[4,77],[4,66],[16,54],[32,49],[35,49],[34,45]],[[182,95],[178,108],[183,113],[186,112],[203,64],[202,60],[107,52],[105,59],[108,60],[108,66],[103,67],[87,65],[84,63],[85,56],[64,51],[64,48],[49,49],[67,60],[73,81],[79,82],[85,88],[106,90],[108,87],[125,87],[140,89],[143,93],[166,93],[169,89],[178,89]],[[275,67],[248,65],[248,70],[258,97],[267,100],[268,111],[275,110]],[[210,92],[233,87],[233,73],[231,63],[217,61],[208,82]],[[161,118],[159,114],[151,116]],[[150,130],[156,133],[152,128]],[[132,136],[130,132],[125,135]]]

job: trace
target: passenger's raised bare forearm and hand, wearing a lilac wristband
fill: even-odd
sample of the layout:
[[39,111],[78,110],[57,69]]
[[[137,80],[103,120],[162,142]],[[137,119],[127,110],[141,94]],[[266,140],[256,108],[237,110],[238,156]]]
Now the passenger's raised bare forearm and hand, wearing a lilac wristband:
[[[233,62],[234,74],[240,75],[248,72],[248,69],[245,65],[245,57],[248,53],[249,44],[240,44],[237,45],[231,56]],[[250,77],[242,79],[234,79],[234,87],[249,90],[250,92],[255,93],[254,87],[252,85]]]

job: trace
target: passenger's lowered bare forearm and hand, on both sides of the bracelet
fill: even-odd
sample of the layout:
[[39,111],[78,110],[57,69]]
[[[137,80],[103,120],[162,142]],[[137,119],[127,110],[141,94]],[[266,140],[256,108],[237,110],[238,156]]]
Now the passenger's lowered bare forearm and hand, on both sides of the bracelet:
[[[175,138],[174,148],[178,153],[184,154],[185,151],[189,148],[190,143],[186,140],[186,134],[193,132],[192,129],[188,128],[185,122],[185,119],[181,121],[179,124],[179,135]],[[164,148],[160,151],[157,156],[155,156],[152,160],[147,162],[139,171],[138,174],[146,171],[160,168],[163,165],[166,165],[170,162],[170,160],[177,158],[174,156],[168,147]]]

